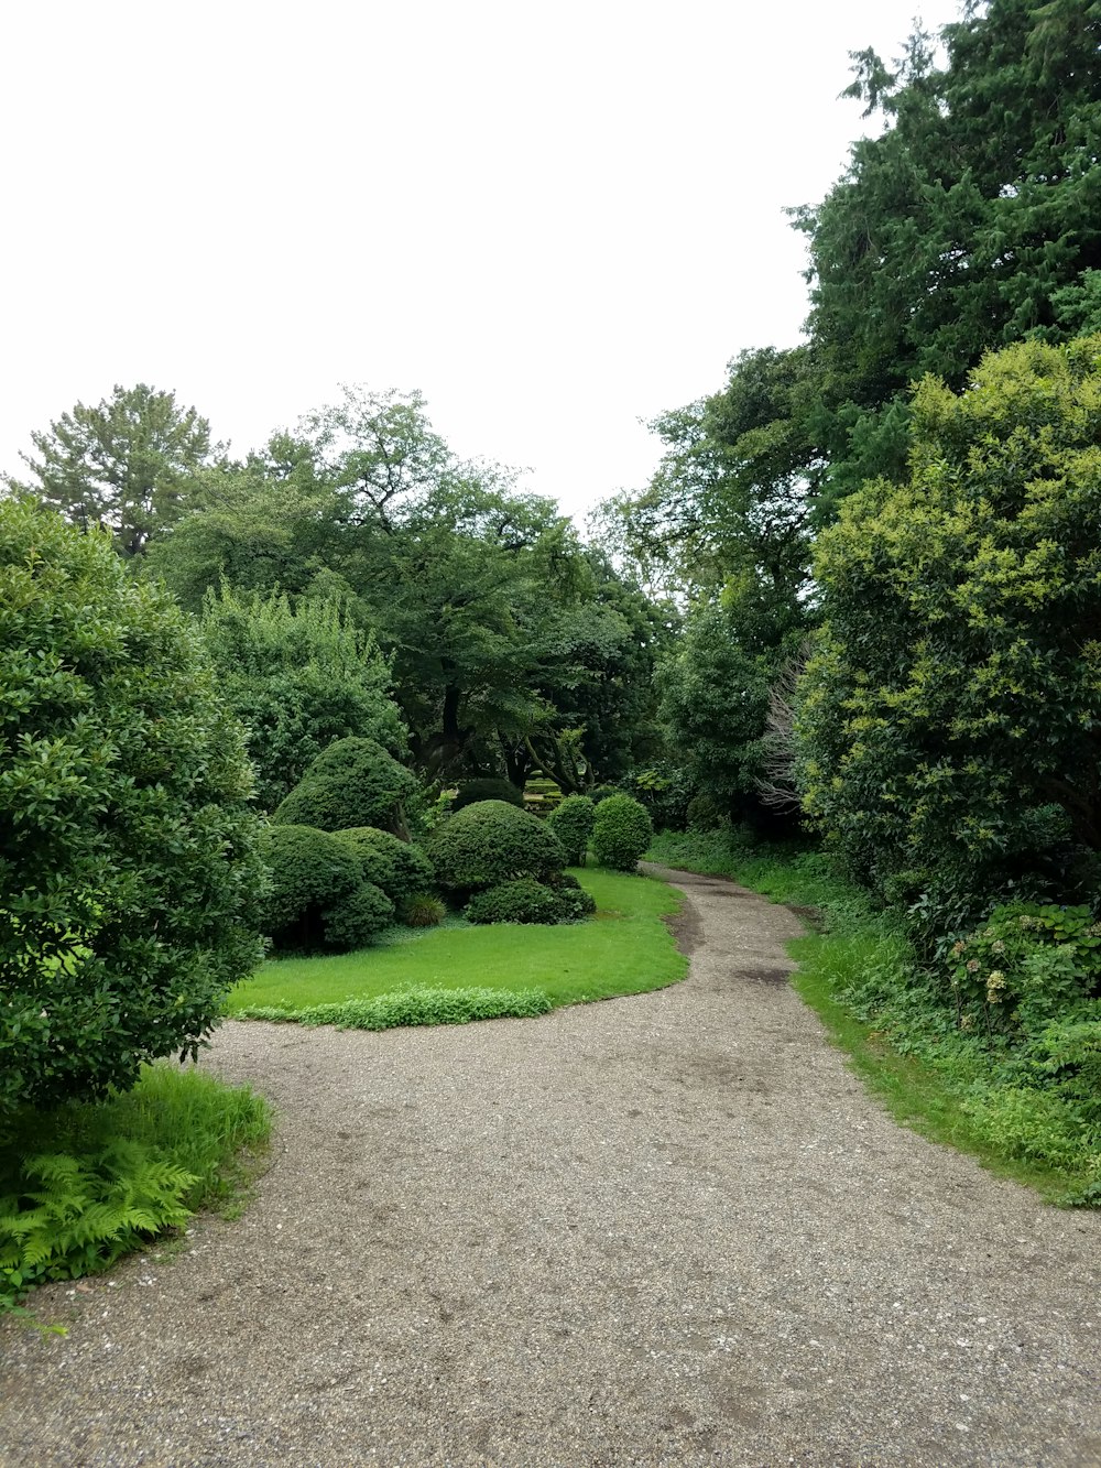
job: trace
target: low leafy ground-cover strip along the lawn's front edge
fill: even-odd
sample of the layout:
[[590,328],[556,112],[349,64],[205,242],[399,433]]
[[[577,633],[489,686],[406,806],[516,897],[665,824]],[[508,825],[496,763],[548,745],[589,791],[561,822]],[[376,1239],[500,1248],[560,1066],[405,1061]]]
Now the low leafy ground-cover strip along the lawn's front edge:
[[433,989],[417,986],[379,994],[373,1000],[316,1004],[307,1010],[267,1006],[242,1010],[242,1019],[276,1023],[336,1025],[341,1029],[395,1029],[399,1025],[468,1025],[476,1019],[528,1019],[549,1014],[553,1003],[543,989]]

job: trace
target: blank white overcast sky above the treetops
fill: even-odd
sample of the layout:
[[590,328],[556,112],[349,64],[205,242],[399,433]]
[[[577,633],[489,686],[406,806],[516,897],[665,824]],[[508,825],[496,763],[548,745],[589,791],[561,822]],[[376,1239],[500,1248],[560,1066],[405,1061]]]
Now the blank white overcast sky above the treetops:
[[639,420],[790,345],[850,50],[956,0],[95,0],[0,19],[0,470],[119,382],[238,452],[420,388],[583,515]]

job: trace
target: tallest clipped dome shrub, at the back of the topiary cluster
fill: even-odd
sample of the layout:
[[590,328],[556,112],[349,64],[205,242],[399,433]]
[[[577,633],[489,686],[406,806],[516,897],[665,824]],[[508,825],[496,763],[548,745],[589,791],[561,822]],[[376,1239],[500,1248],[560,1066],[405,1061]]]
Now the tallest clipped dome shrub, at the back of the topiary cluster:
[[379,826],[408,840],[405,810],[418,793],[415,777],[382,744],[342,738],[317,756],[272,819],[320,831]]

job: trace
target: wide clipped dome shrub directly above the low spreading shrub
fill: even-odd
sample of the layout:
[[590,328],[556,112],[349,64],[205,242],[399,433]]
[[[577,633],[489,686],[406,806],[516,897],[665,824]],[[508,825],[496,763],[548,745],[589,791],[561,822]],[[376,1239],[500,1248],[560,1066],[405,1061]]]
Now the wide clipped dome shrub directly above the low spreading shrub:
[[504,800],[483,800],[448,816],[429,837],[436,881],[457,895],[514,876],[561,872],[565,851],[545,821]]

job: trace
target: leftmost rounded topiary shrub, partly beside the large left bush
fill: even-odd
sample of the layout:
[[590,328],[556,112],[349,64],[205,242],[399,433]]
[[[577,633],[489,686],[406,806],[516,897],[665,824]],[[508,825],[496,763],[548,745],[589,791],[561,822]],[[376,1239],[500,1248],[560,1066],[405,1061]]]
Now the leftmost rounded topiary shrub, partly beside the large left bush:
[[276,948],[316,948],[324,941],[321,913],[363,885],[360,857],[316,826],[273,825],[264,832],[272,871],[264,931]]

